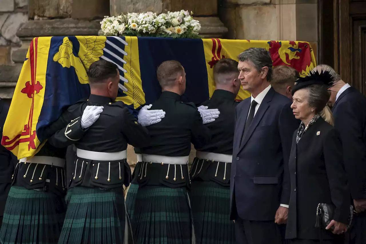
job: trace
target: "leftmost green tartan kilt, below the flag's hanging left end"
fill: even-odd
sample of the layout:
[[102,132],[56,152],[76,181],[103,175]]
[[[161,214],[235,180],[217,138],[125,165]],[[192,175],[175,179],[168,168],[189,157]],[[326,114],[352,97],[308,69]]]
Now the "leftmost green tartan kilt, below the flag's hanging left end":
[[62,196],[12,186],[5,205],[0,240],[4,244],[56,244],[65,212]]

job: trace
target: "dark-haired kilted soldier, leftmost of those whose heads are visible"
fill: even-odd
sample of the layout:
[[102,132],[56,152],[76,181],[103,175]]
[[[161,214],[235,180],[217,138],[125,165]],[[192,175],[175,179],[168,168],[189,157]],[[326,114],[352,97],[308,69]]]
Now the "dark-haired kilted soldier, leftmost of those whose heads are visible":
[[[131,180],[126,149],[127,144],[147,146],[150,137],[124,103],[115,102],[117,66],[99,60],[91,64],[88,75],[89,99],[78,104],[71,122],[64,122],[63,114],[55,123],[64,123],[65,128],[49,139],[56,147],[76,147],[75,162],[69,165],[72,180],[59,243],[133,243],[124,204],[123,185],[128,186]],[[80,114],[87,106],[103,111],[91,115],[98,120],[83,130],[82,123],[90,118]]]

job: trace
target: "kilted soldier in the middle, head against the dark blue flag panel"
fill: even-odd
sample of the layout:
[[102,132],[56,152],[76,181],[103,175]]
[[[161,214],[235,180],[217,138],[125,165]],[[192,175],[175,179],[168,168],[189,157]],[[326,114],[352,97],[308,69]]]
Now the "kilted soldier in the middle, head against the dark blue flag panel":
[[[135,167],[126,198],[138,244],[194,241],[188,156],[191,143],[203,147],[210,133],[197,107],[180,101],[186,89],[185,76],[177,61],[165,61],[157,69],[162,93],[152,109],[162,109],[166,114],[160,123],[146,127],[151,142],[139,150],[142,162]],[[211,119],[218,114],[213,111]]]

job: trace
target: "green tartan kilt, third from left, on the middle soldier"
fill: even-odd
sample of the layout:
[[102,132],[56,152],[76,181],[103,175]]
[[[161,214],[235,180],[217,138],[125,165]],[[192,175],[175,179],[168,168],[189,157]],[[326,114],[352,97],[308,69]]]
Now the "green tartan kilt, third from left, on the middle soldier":
[[190,200],[185,187],[132,183],[126,198],[137,244],[194,243]]

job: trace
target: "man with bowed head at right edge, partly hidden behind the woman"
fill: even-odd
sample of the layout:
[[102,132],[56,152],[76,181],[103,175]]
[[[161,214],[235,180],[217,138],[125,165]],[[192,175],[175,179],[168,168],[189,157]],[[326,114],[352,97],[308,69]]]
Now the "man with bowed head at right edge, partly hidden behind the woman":
[[348,186],[358,214],[354,218],[350,243],[366,243],[366,98],[350,86],[332,67],[320,64],[315,69],[329,70],[335,77],[330,88],[334,126],[339,130],[343,145],[344,167]]

